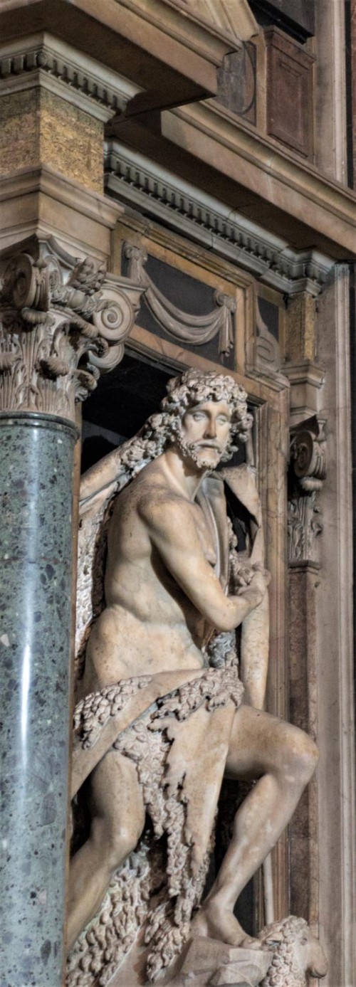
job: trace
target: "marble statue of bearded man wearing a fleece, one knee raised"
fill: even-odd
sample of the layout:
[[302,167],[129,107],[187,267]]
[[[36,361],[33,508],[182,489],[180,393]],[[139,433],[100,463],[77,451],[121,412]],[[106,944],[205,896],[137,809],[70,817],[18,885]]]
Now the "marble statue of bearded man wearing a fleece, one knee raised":
[[[269,575],[254,471],[217,469],[250,425],[232,377],[188,370],[83,477],[73,794],[82,786],[90,823],[70,869],[68,987],[128,984],[133,955],[130,983],[154,981],[192,936],[255,946],[236,898],[312,776],[310,737],[263,711]],[[204,900],[224,775],[256,784]]]

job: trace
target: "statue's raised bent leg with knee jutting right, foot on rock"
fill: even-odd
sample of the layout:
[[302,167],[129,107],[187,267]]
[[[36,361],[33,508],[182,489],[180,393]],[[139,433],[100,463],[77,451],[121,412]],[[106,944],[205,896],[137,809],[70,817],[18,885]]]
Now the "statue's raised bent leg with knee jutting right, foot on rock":
[[248,706],[236,711],[226,776],[258,781],[236,812],[222,867],[195,920],[196,934],[252,945],[233,916],[236,899],[287,826],[316,761],[315,744],[298,726]]

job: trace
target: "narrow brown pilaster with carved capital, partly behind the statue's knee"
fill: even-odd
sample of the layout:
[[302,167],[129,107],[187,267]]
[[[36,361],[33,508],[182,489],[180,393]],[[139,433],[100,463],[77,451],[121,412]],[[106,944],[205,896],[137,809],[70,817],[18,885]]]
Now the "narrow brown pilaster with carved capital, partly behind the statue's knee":
[[[290,719],[317,740],[317,537],[322,531],[317,493],[325,479],[324,420],[313,416],[291,430],[289,477]],[[318,847],[316,780],[290,824],[291,911],[317,934]]]

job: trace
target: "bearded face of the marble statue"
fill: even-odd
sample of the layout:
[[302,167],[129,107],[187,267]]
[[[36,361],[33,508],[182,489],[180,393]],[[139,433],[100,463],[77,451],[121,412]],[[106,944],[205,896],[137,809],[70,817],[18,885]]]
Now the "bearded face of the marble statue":
[[226,448],[231,413],[224,401],[194,405],[182,418],[178,446],[202,470],[215,470]]

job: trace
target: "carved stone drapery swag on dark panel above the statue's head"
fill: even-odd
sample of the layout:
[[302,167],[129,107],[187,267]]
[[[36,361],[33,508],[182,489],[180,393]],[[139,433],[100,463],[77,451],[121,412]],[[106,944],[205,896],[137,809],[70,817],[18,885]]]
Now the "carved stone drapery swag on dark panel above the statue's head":
[[129,260],[130,277],[144,288],[145,302],[168,336],[174,340],[202,346],[214,340],[219,334],[219,352],[223,356],[228,356],[234,342],[232,315],[236,311],[236,304],[230,295],[217,290],[215,292],[217,308],[208,315],[191,315],[165,298],[150,279],[144,269],[147,261],[144,250],[126,244],[125,255]]

